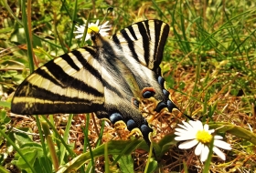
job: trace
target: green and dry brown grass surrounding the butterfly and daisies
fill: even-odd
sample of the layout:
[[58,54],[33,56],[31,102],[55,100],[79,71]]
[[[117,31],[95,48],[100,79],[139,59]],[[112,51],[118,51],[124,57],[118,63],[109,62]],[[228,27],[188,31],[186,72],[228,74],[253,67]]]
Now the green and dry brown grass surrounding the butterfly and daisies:
[[[68,164],[69,170],[79,168],[80,172],[95,168],[106,172],[143,172],[144,168],[146,172],[183,169],[191,172],[195,166],[205,172],[208,169],[212,172],[256,171],[253,135],[256,128],[256,4],[253,1],[163,0],[107,4],[39,0],[33,1],[31,7],[30,1],[0,2],[1,171],[53,172],[52,160],[55,159],[55,167]],[[111,6],[113,11],[106,15]],[[231,144],[232,150],[225,151],[225,162],[213,157],[204,165],[194,155],[194,149],[176,147],[173,129],[184,119],[176,112],[165,113],[150,122],[155,127],[153,138],[160,156],[158,163],[154,158],[147,162],[144,150],[149,148],[144,140],[138,137],[124,140],[129,134],[127,130],[106,127],[93,115],[76,115],[71,120],[69,115],[18,117],[10,114],[11,94],[34,68],[81,46],[80,40],[74,38],[74,25],[83,24],[82,19],[88,18],[93,22],[100,19],[103,23],[105,15],[112,24],[112,34],[141,18],[157,18],[170,25],[161,65],[166,86],[183,112],[218,128],[217,132]],[[44,121],[53,131],[49,141],[44,139],[39,126]],[[16,132],[16,128],[39,136]],[[44,131],[47,128],[44,125]]]

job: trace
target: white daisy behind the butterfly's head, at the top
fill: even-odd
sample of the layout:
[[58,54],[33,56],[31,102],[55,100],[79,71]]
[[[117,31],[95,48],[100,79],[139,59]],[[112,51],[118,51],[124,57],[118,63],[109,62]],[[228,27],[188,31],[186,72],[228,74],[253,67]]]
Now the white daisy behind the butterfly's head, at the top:
[[[111,30],[112,25],[108,25],[109,21],[106,21],[104,24],[99,25],[100,21],[99,19],[96,21],[96,23],[89,23],[87,34],[85,37],[85,41],[89,40],[91,38],[91,32],[94,31],[96,33],[100,33],[101,36],[109,36],[108,31]],[[76,36],[75,38],[81,38],[83,36],[85,26],[86,25],[75,25],[77,27],[77,31],[74,33],[78,33],[80,35]]]

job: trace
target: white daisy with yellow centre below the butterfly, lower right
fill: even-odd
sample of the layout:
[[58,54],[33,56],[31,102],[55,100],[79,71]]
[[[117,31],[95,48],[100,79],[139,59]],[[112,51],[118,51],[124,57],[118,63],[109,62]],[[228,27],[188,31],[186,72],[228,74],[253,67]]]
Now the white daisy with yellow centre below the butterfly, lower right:
[[200,156],[201,161],[206,161],[209,153],[209,143],[212,138],[214,138],[213,152],[216,153],[222,160],[226,159],[225,154],[219,148],[230,150],[230,145],[221,140],[223,137],[211,135],[214,132],[214,129],[208,129],[208,124],[203,126],[202,122],[198,120],[190,120],[188,123],[183,121],[182,123],[183,125],[179,124],[176,128],[175,134],[177,137],[175,137],[175,139],[177,141],[186,141],[181,143],[178,148],[188,149],[197,146],[195,149],[195,154]]

